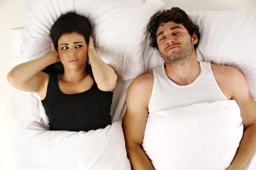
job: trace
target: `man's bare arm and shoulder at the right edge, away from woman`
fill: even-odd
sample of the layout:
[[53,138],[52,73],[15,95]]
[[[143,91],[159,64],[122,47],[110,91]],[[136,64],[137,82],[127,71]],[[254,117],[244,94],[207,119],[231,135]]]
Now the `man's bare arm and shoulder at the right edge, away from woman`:
[[256,102],[249,94],[247,81],[240,71],[222,66],[218,73],[216,80],[228,99],[236,100],[244,125],[243,137],[228,170],[244,170],[256,151]]

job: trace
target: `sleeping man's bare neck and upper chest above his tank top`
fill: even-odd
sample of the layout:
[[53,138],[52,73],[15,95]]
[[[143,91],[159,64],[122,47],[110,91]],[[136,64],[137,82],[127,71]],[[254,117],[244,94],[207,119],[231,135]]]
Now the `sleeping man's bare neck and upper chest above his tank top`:
[[196,58],[184,63],[165,64],[164,69],[168,78],[180,86],[191,84],[200,75],[200,63]]

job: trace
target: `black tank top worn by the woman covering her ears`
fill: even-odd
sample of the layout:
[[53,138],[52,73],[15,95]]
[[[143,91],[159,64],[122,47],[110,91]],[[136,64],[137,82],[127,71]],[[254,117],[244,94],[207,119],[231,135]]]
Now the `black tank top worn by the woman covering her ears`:
[[43,103],[50,130],[88,131],[111,125],[112,92],[94,83],[88,91],[67,95],[60,91],[57,75],[49,75]]

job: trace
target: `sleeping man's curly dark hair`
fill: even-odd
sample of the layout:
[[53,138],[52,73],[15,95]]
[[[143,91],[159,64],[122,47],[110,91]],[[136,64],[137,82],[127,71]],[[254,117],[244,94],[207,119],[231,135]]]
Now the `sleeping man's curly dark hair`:
[[[149,22],[148,31],[151,33],[152,42],[151,46],[156,47],[158,49],[157,41],[156,41],[156,31],[159,28],[161,23],[168,23],[173,21],[176,24],[182,24],[187,30],[190,36],[194,33],[197,35],[198,43],[200,40],[200,32],[199,27],[192,22],[188,14],[184,12],[182,9],[178,7],[173,7],[170,10],[164,10],[157,12],[154,16],[152,16]],[[196,49],[198,43],[194,44],[194,48]]]

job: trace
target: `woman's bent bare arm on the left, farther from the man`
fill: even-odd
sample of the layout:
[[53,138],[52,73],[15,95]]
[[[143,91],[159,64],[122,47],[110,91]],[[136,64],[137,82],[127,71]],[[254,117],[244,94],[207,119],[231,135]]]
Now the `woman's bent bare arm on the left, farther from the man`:
[[48,76],[44,73],[44,67],[59,61],[59,55],[56,51],[51,51],[47,55],[21,63],[7,75],[8,82],[21,91],[39,92],[44,87],[45,78]]

